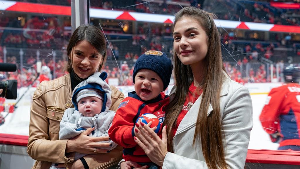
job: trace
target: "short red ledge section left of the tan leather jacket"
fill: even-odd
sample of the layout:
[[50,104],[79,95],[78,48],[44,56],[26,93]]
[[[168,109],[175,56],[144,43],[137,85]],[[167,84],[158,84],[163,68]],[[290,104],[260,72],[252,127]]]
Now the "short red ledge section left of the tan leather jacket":
[[28,136],[0,133],[0,144],[27,146]]

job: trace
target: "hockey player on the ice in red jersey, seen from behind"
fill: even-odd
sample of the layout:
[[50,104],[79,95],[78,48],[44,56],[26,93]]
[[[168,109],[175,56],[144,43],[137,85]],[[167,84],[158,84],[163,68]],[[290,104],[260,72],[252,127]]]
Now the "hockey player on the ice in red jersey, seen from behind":
[[300,151],[300,67],[283,70],[285,84],[268,94],[259,120],[278,150]]

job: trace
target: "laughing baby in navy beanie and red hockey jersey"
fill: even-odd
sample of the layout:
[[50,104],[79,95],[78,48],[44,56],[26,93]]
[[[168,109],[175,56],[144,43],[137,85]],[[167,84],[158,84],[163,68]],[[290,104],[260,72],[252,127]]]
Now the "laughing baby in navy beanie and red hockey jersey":
[[[161,125],[164,122],[165,107],[170,97],[162,91],[170,83],[173,65],[164,52],[147,51],[141,55],[134,65],[133,82],[135,91],[128,93],[116,112],[108,134],[115,143],[124,148],[125,161],[133,161],[139,165],[158,168],[146,155],[144,150],[134,141],[137,132],[137,119],[151,113],[158,117]],[[161,137],[162,127],[158,131]]]

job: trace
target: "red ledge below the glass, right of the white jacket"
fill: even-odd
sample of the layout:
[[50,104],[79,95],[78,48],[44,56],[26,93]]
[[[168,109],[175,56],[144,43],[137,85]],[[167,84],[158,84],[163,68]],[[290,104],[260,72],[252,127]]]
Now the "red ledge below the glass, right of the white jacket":
[[300,165],[300,152],[292,150],[248,150],[246,162]]

